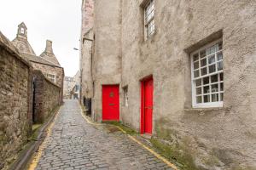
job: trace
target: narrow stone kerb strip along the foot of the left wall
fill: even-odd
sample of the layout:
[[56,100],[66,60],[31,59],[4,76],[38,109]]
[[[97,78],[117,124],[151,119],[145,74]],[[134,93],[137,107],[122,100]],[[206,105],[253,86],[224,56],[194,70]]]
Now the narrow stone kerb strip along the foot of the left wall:
[[26,148],[24,150],[21,150],[20,153],[18,154],[18,158],[16,159],[15,162],[13,162],[9,170],[20,170],[20,169],[26,169],[28,166],[28,163],[32,161],[32,156],[34,156],[34,153],[38,150],[39,146],[43,143],[44,138],[46,137],[46,129],[49,127],[50,123],[54,121],[55,116],[58,111],[60,111],[60,107],[55,111],[52,116],[48,119],[47,122],[44,122],[42,127],[40,127],[38,131],[38,136],[37,139],[34,141],[29,142],[26,144]]

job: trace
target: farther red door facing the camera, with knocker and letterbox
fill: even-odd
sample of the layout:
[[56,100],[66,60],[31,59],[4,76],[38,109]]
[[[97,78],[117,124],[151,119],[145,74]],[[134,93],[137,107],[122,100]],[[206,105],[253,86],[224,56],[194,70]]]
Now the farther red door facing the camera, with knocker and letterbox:
[[119,121],[119,85],[102,86],[102,121]]

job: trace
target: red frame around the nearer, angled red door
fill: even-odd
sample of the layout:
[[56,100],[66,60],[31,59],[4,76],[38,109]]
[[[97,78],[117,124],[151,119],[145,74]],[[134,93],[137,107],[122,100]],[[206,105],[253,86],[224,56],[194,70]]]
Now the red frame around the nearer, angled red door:
[[[141,134],[145,133],[145,82],[147,82],[148,80],[153,81],[153,105],[154,105],[154,78],[153,78],[153,75],[150,75],[140,80],[141,82]],[[154,111],[154,106],[152,110],[152,130],[153,130],[153,111]]]

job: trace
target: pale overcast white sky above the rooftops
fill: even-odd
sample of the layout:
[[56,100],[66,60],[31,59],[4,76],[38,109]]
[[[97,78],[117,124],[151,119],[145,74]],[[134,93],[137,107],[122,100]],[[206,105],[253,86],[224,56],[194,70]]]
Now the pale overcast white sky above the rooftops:
[[46,39],[53,42],[55,56],[73,77],[79,70],[81,0],[0,0],[0,31],[15,39],[18,25],[24,21],[28,41],[37,55],[45,48]]

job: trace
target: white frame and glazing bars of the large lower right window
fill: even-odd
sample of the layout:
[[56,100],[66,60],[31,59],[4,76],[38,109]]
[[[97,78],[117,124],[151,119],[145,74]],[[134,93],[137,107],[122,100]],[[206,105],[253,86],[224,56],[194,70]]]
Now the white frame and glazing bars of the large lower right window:
[[[211,76],[213,76],[213,75],[218,75],[218,74],[220,74],[220,73],[224,73],[224,70],[221,70],[221,71],[217,71],[217,68],[215,68],[215,72],[212,72],[212,73],[208,73],[209,71],[207,71],[207,75],[204,75],[204,76],[201,76],[201,71],[200,71],[200,73],[199,73],[199,77],[194,77],[195,75],[194,75],[194,60],[193,60],[193,55],[194,54],[197,54],[197,53],[199,53],[201,50],[203,50],[203,49],[207,49],[207,48],[210,48],[210,47],[212,47],[214,44],[217,44],[218,42],[223,42],[222,41],[222,39],[218,39],[218,40],[216,40],[216,41],[214,41],[214,42],[211,42],[211,43],[208,43],[206,46],[203,46],[202,48],[199,48],[199,49],[197,49],[196,51],[194,51],[193,53],[191,53],[190,54],[190,69],[191,69],[191,85],[192,85],[192,106],[193,106],[193,108],[214,108],[214,107],[223,107],[223,101],[218,101],[218,102],[208,102],[208,103],[201,103],[201,104],[197,104],[196,103],[196,85],[195,85],[195,79],[201,79],[201,78],[203,78],[203,77],[211,77]],[[215,54],[215,63],[216,63],[216,67],[217,67],[217,62],[220,62],[221,60],[222,60],[222,62],[223,62],[223,60],[224,60],[224,54],[223,54],[223,44],[222,44],[222,49],[221,50],[218,50],[218,51],[216,51],[216,52],[214,52],[214,54]],[[217,59],[217,54],[218,53],[220,53],[220,52],[222,52],[222,55],[223,55],[223,59],[221,59],[220,61],[217,61],[216,59]],[[211,56],[212,54],[208,54],[207,56],[206,56],[206,58],[208,58],[208,56]],[[199,59],[199,63],[200,63],[200,59]],[[201,64],[200,64],[201,65]],[[208,70],[208,65],[211,65],[211,64],[208,64],[208,59],[207,59],[207,70]],[[199,66],[199,70],[201,70],[201,66]],[[223,74],[224,75],[224,74]],[[209,78],[209,81],[210,81],[210,79],[211,78]],[[219,80],[219,76],[218,76],[218,84],[219,83],[223,83],[224,84],[224,77],[223,77],[223,81],[220,81]],[[201,82],[202,83],[202,82]],[[214,84],[214,83],[213,83]],[[212,88],[211,88],[211,85],[212,85],[212,83],[210,83],[209,82],[209,91],[210,91],[210,93],[209,93],[209,95],[210,95],[210,101],[211,101],[211,99],[212,99]],[[203,87],[203,84],[201,84],[201,87]],[[224,89],[223,89],[223,91],[220,91],[220,87],[219,87],[219,85],[218,85],[218,98],[220,98],[220,94],[224,94]],[[202,96],[202,99],[203,99],[203,89],[201,89],[201,96]]]

